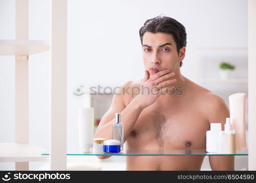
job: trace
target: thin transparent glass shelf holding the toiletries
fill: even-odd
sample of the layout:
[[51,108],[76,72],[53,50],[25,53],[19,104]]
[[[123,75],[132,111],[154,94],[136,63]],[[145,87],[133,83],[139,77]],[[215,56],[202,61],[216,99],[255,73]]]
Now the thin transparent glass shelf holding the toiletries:
[[[42,153],[42,155],[49,155],[49,151]],[[248,149],[246,147],[237,149],[235,154],[225,153],[208,153],[205,149],[145,149],[134,150],[125,149],[120,153],[92,153],[81,152],[80,149],[74,149],[67,152],[67,155],[84,155],[84,156],[248,156]]]

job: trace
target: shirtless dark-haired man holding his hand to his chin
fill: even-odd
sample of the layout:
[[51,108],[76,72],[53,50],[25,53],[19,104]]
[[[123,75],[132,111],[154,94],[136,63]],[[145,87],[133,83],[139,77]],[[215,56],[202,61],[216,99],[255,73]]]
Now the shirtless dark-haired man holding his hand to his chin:
[[[145,77],[124,82],[116,90],[94,138],[112,139],[115,113],[121,113],[126,149],[206,149],[210,124],[222,123],[223,130],[230,114],[222,98],[180,73],[186,52],[184,26],[158,16],[147,20],[139,32]],[[176,87],[182,92],[172,94]],[[204,157],[127,156],[126,170],[199,171]],[[234,156],[209,156],[209,161],[212,170],[234,170]]]

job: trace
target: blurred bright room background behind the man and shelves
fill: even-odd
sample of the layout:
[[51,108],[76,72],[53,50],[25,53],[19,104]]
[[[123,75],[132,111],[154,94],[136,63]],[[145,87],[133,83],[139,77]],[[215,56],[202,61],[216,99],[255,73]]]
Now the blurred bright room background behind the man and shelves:
[[[67,150],[79,147],[79,107],[94,107],[96,129],[110,107],[111,90],[144,76],[139,29],[160,14],[186,28],[184,76],[228,106],[231,94],[248,95],[246,0],[68,0],[67,8]],[[50,40],[50,29],[50,0],[30,0],[29,39]],[[0,39],[15,39],[15,0],[0,0]],[[15,141],[14,74],[14,56],[0,56],[0,142]],[[98,85],[108,89],[98,91]],[[92,86],[96,95],[90,94]],[[29,56],[29,110],[29,142],[49,149],[50,51]],[[248,100],[246,129],[247,114]],[[78,169],[125,170],[125,157],[119,156],[68,156],[70,169],[77,168],[76,162]],[[48,164],[30,162],[29,168],[44,170]],[[235,169],[247,168],[248,156],[236,156]],[[0,170],[15,170],[15,163],[0,163]],[[207,156],[202,170],[211,170]]]

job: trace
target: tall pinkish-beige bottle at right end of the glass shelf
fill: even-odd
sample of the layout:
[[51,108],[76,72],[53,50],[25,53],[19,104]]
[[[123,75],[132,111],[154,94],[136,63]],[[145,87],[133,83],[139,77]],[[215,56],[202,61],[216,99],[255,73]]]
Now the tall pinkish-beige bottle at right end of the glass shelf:
[[236,132],[236,147],[246,147],[245,99],[245,93],[236,93],[228,97],[231,124]]

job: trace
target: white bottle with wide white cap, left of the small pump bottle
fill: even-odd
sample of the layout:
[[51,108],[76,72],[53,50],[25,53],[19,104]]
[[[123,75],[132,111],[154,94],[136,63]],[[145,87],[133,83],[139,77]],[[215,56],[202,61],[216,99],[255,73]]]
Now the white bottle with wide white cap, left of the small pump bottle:
[[211,130],[206,131],[206,151],[217,152],[217,137],[221,131],[221,123],[211,123]]

